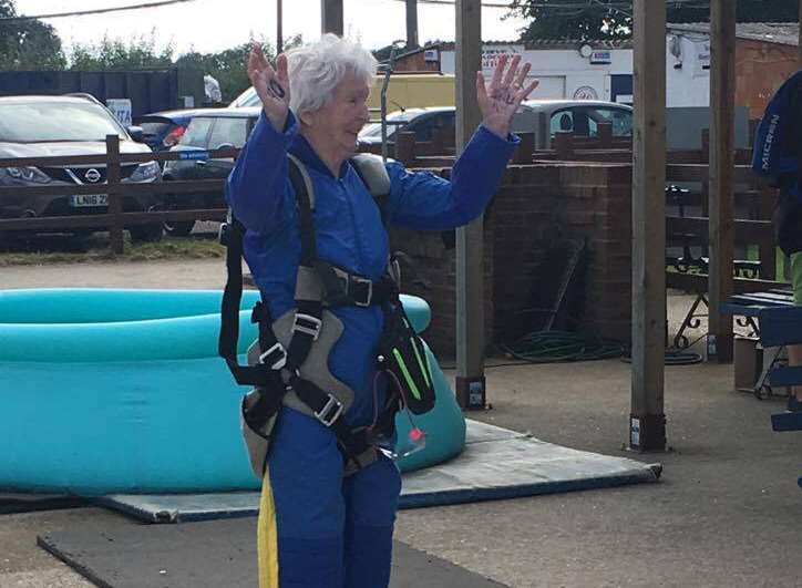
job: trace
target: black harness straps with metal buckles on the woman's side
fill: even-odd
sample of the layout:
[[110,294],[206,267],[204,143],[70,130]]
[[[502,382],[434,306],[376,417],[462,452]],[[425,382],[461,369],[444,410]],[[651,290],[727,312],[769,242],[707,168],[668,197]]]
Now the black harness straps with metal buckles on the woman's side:
[[[277,340],[269,309],[259,301],[251,312],[251,322],[256,323],[259,330],[261,350],[259,362],[247,367],[237,362],[245,227],[229,213],[228,221],[220,228],[220,243],[227,249],[228,280],[223,293],[218,352],[225,358],[238,384],[255,385],[259,389],[256,404],[246,414],[249,424],[255,429],[264,424],[280,409],[285,394],[292,390],[315,417],[335,433],[347,464],[353,464],[359,470],[367,464],[361,457],[373,448],[372,440],[376,432],[392,433],[393,400],[389,399],[373,427],[352,429],[342,419],[348,406],[313,382],[301,378],[299,368],[320,334],[323,305],[368,307],[398,299],[398,287],[390,276],[383,277],[380,281],[372,281],[318,259],[313,224],[315,193],[311,179],[295,156],[288,154],[288,161],[289,178],[298,205],[301,240],[300,268],[296,283],[296,314],[290,342],[285,349]],[[321,291],[310,285],[313,281],[310,276],[317,276],[322,282]]]

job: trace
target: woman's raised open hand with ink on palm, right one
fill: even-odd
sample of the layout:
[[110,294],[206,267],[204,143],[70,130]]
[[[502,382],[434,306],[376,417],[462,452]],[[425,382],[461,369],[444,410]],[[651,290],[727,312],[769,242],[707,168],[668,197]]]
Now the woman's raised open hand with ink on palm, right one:
[[510,124],[513,115],[518,110],[518,105],[526,100],[539,83],[537,80],[533,80],[524,87],[526,75],[529,73],[532,65],[525,63],[518,71],[521,55],[515,55],[510,61],[508,69],[506,68],[507,61],[506,55],[498,59],[490,87],[485,85],[482,72],[476,72],[476,100],[483,116],[482,124],[485,128],[505,140],[510,134]]

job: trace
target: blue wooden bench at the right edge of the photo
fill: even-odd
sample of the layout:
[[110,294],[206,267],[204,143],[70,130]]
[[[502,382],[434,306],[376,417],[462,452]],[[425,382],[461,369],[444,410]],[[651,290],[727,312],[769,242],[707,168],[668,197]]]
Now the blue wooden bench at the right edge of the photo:
[[[784,347],[802,343],[802,307],[764,308],[758,313],[760,341],[763,347]],[[802,385],[802,367],[774,367],[772,385]],[[781,412],[771,415],[774,431],[802,431],[802,412]],[[802,487],[802,477],[798,479]]]

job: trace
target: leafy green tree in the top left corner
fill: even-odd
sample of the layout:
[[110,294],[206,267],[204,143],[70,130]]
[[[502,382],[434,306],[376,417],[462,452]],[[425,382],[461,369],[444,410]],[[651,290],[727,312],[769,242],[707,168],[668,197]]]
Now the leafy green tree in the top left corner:
[[[0,0],[0,18],[18,17],[13,0]],[[61,70],[61,39],[39,20],[0,21],[0,70]]]

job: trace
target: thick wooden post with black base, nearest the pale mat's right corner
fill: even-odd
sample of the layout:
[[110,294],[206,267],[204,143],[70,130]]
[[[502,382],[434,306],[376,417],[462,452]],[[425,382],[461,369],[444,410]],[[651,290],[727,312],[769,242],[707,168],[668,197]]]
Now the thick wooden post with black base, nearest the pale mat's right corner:
[[666,448],[666,4],[635,0],[629,446]]

